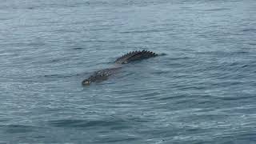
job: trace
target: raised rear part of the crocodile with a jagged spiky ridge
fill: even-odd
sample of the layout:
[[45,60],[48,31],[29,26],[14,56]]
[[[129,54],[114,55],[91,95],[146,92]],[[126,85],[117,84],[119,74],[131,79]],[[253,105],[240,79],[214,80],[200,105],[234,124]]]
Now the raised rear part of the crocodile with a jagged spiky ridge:
[[124,54],[120,58],[117,58],[115,63],[126,64],[129,62],[138,61],[138,60],[151,58],[151,57],[155,57],[155,56],[158,56],[158,54],[155,54],[152,51],[148,51],[148,50],[142,50],[142,51],[138,50],[137,51],[136,50],[136,51],[132,51],[130,53]]

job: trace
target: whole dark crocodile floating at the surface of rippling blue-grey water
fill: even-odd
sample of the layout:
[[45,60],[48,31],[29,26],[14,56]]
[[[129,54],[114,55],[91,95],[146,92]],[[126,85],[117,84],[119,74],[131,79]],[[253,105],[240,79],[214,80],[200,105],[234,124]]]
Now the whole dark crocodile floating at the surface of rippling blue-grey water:
[[90,75],[89,78],[86,78],[85,80],[82,81],[83,86],[88,86],[92,82],[102,82],[109,78],[110,75],[117,74],[120,69],[122,69],[122,65],[134,62],[134,61],[139,61],[142,59],[146,58],[153,58],[158,56],[159,54],[155,54],[152,51],[148,50],[136,50],[132,51],[130,53],[122,55],[122,57],[117,58],[114,63],[118,64],[118,66],[112,67],[112,68],[107,68],[103,70],[98,70],[94,72],[94,74]]

